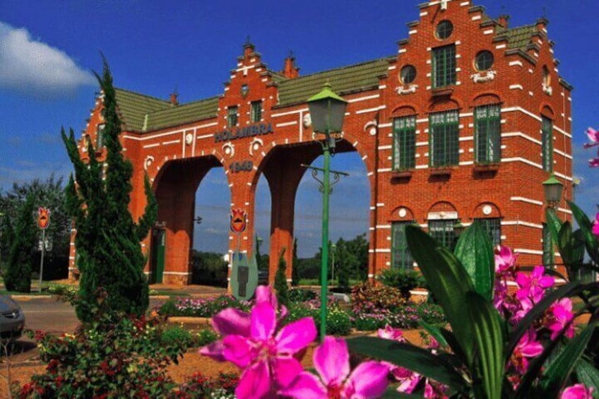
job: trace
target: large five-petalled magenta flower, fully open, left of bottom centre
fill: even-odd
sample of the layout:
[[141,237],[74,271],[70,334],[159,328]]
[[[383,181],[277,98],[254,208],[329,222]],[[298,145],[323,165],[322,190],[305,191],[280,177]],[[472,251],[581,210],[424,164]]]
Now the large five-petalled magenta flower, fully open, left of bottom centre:
[[287,324],[275,334],[276,309],[269,302],[254,305],[250,319],[249,335],[227,335],[222,343],[223,357],[244,369],[235,390],[239,399],[266,398],[287,386],[303,371],[294,355],[316,338],[311,317]]

